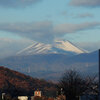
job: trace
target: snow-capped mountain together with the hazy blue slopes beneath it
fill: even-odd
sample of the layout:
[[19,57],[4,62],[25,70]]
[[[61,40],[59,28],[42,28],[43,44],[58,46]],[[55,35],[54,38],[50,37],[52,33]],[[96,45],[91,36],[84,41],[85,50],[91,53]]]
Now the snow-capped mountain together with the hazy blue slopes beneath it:
[[17,55],[1,59],[0,65],[57,81],[69,69],[91,75],[98,73],[98,51],[87,53],[69,41],[55,41],[52,45],[34,42]]

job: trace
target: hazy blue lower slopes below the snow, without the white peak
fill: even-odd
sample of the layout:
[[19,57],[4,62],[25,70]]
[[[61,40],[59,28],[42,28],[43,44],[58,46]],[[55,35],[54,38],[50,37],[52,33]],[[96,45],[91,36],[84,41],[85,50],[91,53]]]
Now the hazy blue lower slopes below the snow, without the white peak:
[[0,60],[0,65],[34,77],[57,81],[69,69],[89,75],[97,74],[98,51],[70,57],[54,53],[14,56]]

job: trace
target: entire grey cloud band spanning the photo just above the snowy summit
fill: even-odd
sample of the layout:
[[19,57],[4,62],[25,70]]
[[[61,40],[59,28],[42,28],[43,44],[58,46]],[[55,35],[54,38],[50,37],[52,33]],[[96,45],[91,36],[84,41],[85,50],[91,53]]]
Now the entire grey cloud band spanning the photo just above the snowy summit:
[[98,26],[100,26],[99,22],[66,23],[55,26],[52,22],[1,23],[0,30],[18,34],[36,41],[50,42],[54,40],[55,36],[64,36],[65,34],[89,30],[97,28]]

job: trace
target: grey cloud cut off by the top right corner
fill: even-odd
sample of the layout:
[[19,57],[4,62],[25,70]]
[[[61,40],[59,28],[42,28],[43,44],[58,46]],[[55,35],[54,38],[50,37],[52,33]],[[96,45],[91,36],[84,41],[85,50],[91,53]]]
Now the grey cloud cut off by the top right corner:
[[100,0],[71,0],[72,6],[100,7]]

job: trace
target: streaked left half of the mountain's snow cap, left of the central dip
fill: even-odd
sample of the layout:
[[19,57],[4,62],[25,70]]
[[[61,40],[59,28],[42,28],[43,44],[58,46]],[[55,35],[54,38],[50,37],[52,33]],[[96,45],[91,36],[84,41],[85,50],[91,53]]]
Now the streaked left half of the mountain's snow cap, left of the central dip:
[[56,53],[52,51],[52,46],[50,44],[38,43],[35,42],[29,47],[24,48],[19,51],[17,55],[32,55],[32,54],[47,54],[47,53]]

